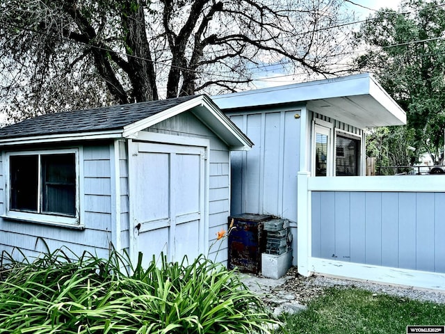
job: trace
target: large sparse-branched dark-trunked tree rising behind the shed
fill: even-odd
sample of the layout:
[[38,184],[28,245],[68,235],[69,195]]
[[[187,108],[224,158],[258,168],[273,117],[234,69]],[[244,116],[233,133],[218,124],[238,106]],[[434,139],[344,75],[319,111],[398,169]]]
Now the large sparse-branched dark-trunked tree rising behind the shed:
[[341,3],[3,0],[0,102],[22,118],[233,91],[262,65],[332,74],[348,38]]

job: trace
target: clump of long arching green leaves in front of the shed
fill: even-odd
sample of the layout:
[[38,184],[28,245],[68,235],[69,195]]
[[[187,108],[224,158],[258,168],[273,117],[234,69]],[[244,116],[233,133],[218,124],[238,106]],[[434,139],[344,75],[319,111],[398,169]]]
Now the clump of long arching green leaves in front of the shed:
[[268,333],[275,323],[234,271],[203,256],[148,268],[141,255],[136,267],[117,252],[70,257],[8,265],[0,333]]

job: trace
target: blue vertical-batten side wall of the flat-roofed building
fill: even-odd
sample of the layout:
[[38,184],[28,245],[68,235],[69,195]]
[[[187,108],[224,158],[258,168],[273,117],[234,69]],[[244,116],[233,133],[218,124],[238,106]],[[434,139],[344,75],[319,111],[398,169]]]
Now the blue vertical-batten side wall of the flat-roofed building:
[[229,112],[253,141],[248,152],[232,152],[232,214],[273,214],[297,221],[300,166],[299,109]]

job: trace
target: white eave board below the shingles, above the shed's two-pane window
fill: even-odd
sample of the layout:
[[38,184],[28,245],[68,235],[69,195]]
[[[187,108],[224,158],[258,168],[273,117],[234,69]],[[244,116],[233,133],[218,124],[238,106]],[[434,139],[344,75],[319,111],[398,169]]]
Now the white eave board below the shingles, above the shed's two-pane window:
[[42,136],[15,137],[0,140],[0,146],[26,145],[38,143],[55,143],[65,141],[87,141],[92,139],[117,139],[122,138],[122,130],[109,130],[103,132],[81,132],[74,134],[45,134]]

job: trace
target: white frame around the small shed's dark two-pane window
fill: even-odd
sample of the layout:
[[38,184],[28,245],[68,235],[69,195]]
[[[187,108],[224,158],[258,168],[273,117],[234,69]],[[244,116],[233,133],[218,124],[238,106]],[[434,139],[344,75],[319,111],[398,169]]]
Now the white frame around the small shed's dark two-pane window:
[[[66,154],[74,153],[75,170],[76,170],[76,215],[74,217],[57,215],[57,214],[42,214],[35,212],[22,212],[10,209],[10,157],[17,155],[41,155],[41,154]],[[15,221],[28,221],[31,223],[40,223],[45,225],[58,225],[69,228],[85,228],[80,222],[80,198],[81,198],[81,166],[80,166],[81,148],[64,148],[64,149],[49,149],[49,150],[28,150],[28,151],[10,151],[5,153],[5,159],[3,168],[5,170],[5,191],[6,202],[5,212],[2,217],[15,220]],[[39,170],[39,182],[40,182],[40,164]],[[38,206],[40,209],[40,184],[38,193]]]

